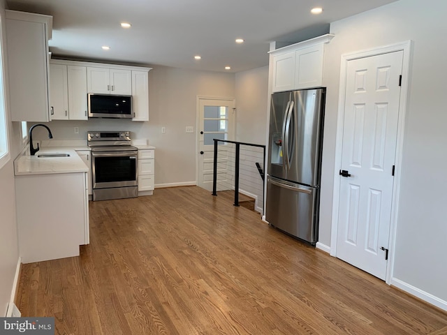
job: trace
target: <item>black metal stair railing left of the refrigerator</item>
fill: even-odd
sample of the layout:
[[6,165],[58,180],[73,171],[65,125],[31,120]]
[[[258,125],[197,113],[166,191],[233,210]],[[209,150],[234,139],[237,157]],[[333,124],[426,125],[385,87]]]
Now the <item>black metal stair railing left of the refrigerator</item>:
[[[258,147],[263,149],[263,163],[265,162],[265,145],[235,142],[230,140],[219,140],[214,138],[214,161],[213,161],[213,177],[212,177],[212,195],[217,195],[217,151],[219,148],[219,142],[233,143],[235,144],[235,202],[234,206],[239,207],[239,179],[240,179],[240,146],[247,145],[249,147]],[[264,181],[265,172],[261,168],[259,163],[256,163],[256,168],[258,168],[259,174],[261,174],[261,179]],[[263,198],[265,196],[265,187],[263,183]]]

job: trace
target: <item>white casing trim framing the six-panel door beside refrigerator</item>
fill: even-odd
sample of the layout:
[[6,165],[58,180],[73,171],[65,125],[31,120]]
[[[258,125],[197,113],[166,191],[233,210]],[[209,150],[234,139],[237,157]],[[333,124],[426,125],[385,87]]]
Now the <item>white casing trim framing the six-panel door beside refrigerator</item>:
[[404,126],[406,117],[406,105],[408,101],[409,91],[409,75],[411,62],[411,47],[412,41],[406,40],[401,43],[392,45],[384,45],[381,47],[374,47],[368,50],[358,52],[350,52],[342,54],[340,64],[340,81],[339,81],[339,105],[337,113],[337,137],[335,142],[335,163],[334,163],[334,185],[332,193],[332,225],[330,234],[330,255],[337,257],[337,232],[338,232],[338,212],[339,212],[339,192],[340,192],[340,176],[339,169],[342,166],[342,144],[343,144],[343,125],[344,125],[344,102],[346,96],[346,69],[348,61],[360,59],[365,57],[378,56],[380,54],[388,54],[391,52],[403,51],[402,57],[402,84],[399,101],[399,121],[397,124],[397,142],[396,142],[396,157],[395,157],[395,178],[393,180],[393,194],[391,200],[391,218],[390,218],[390,237],[388,241],[388,250],[390,260],[386,268],[386,283],[390,284],[393,278],[394,261],[395,261],[395,241],[396,241],[396,227],[397,214],[400,197],[400,179],[402,175],[402,149],[404,147]]

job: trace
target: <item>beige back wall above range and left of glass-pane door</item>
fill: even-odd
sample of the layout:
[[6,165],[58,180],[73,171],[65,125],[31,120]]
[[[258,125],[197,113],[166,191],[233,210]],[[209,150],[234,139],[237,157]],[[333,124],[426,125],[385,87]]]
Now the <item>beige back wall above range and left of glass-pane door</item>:
[[[149,72],[149,121],[89,119],[51,121],[54,140],[87,140],[87,131],[131,131],[135,139],[148,139],[155,151],[155,186],[196,184],[196,98],[235,98],[235,75],[156,66]],[[161,133],[161,127],[166,133]],[[194,133],[185,133],[193,126]],[[73,127],[79,127],[75,134]],[[36,128],[33,139],[47,140]]]

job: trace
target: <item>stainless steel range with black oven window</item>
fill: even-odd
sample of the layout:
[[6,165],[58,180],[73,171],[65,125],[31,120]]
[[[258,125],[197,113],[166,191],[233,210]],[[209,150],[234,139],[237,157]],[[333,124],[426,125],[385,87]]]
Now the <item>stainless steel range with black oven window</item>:
[[138,149],[129,131],[89,131],[91,176],[96,200],[138,196]]

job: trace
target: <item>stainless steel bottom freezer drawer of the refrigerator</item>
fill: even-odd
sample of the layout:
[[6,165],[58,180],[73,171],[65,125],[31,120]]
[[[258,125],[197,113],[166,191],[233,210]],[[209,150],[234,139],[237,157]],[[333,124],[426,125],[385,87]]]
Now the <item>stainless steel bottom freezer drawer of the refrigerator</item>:
[[268,177],[265,219],[288,234],[315,244],[319,189]]

